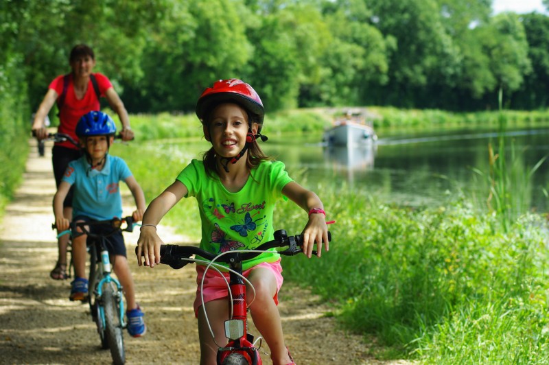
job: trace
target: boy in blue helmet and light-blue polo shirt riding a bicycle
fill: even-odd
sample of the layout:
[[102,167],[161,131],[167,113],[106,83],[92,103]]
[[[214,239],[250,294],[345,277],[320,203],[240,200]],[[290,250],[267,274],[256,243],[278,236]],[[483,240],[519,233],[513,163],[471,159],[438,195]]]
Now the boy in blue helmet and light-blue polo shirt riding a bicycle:
[[[122,216],[122,200],[119,181],[123,180],[130,189],[137,210],[132,213],[135,221],[141,220],[145,211],[145,196],[143,190],[132,176],[126,162],[119,157],[108,154],[110,145],[114,142],[116,126],[108,115],[99,111],[86,113],[76,126],[76,134],[84,156],[72,161],[62,178],[54,196],[54,213],[58,231],[69,228],[69,220],[63,215],[63,201],[74,186],[73,222],[89,222],[91,220],[110,220]],[[100,232],[101,226],[91,226],[91,231]],[[107,228],[109,229],[109,228]],[[96,231],[97,230],[97,231]],[[73,263],[75,279],[71,283],[71,301],[84,301],[88,296],[88,280],[86,278],[86,235],[73,238]],[[135,301],[135,285],[128,266],[124,236],[121,232],[108,237],[108,251],[113,260],[113,268],[121,285],[128,311],[128,332],[133,337],[145,334],[143,311]]]

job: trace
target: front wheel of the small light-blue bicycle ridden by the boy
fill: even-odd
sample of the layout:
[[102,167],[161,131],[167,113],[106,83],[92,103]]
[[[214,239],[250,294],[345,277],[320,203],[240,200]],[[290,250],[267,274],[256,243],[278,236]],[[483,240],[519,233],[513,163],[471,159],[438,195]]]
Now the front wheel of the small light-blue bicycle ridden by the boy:
[[105,337],[110,355],[113,357],[115,365],[124,364],[126,362],[126,352],[124,351],[124,336],[119,316],[120,304],[119,298],[115,297],[111,285],[104,287],[102,303],[105,312]]

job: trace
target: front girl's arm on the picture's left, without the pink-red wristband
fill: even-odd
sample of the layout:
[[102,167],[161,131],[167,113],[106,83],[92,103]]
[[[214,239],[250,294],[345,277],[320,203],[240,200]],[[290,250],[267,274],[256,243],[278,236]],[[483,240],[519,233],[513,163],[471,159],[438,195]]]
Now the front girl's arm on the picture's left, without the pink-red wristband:
[[160,245],[163,242],[159,235],[156,234],[156,225],[188,192],[187,187],[179,180],[176,180],[163,193],[150,202],[145,214],[143,214],[141,233],[137,240],[137,264],[139,266],[142,263],[141,252],[143,252],[145,257],[145,266],[154,268],[156,263],[160,263]]

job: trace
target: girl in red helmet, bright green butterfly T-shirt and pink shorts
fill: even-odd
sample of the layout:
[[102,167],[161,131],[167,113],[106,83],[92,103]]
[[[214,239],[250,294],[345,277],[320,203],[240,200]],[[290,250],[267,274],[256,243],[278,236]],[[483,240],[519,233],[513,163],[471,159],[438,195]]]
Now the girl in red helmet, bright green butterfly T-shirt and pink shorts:
[[[311,257],[316,243],[320,257],[321,242],[325,242],[328,250],[328,230],[320,198],[295,183],[283,163],[272,161],[257,144],[257,138],[266,141],[266,137],[260,133],[264,107],[254,89],[236,79],[215,82],[198,99],[196,115],[212,147],[203,161],[191,161],[145,211],[137,248],[139,266],[142,252],[145,266],[153,268],[160,263],[163,242],[156,234],[156,225],[181,198],[188,196],[198,200],[202,220],[200,248],[210,252],[253,249],[272,239],[274,205],[277,200],[288,198],[309,213],[303,231],[303,251]],[[197,265],[196,270],[200,283],[205,266]],[[244,261],[243,270],[255,287],[255,300],[249,309],[269,346],[272,363],[293,364],[277,308],[277,294],[283,281],[280,256],[274,250],[261,254]],[[227,272],[224,274],[229,276]],[[215,338],[224,338],[224,320],[229,317],[226,283],[213,270],[205,275],[204,305]],[[194,310],[198,317],[200,364],[215,364],[218,346],[209,334],[200,296],[199,285]]]

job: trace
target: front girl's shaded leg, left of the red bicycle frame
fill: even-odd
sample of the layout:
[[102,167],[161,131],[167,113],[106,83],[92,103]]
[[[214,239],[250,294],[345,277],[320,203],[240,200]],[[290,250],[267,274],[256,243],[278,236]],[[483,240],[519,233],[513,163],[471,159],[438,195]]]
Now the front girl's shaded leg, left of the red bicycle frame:
[[229,303],[227,298],[217,299],[205,304],[208,320],[215,335],[215,342],[204,316],[202,306],[198,307],[198,339],[200,340],[200,365],[215,365],[217,362],[218,346],[227,343],[225,337],[225,320],[229,318]]

